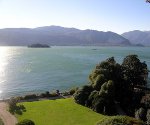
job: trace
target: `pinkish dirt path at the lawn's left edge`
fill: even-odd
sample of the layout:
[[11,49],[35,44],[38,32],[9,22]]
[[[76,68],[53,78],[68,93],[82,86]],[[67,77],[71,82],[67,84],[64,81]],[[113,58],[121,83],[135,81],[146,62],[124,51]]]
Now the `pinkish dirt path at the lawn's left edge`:
[[7,103],[5,102],[0,102],[0,118],[4,125],[16,125],[17,123],[16,117],[7,111]]

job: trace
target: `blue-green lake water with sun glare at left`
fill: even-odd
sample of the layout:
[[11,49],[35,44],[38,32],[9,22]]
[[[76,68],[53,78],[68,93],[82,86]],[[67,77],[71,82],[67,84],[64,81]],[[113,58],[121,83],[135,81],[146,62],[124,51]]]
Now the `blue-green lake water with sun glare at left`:
[[128,54],[150,69],[148,47],[0,47],[0,99],[84,85],[97,63],[111,56],[121,63]]

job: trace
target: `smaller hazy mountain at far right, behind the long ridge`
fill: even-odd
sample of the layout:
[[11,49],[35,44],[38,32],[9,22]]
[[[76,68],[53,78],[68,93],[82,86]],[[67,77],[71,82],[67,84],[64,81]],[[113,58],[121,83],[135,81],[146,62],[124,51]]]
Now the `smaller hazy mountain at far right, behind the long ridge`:
[[130,40],[132,44],[150,46],[150,31],[134,30],[123,33],[122,36]]

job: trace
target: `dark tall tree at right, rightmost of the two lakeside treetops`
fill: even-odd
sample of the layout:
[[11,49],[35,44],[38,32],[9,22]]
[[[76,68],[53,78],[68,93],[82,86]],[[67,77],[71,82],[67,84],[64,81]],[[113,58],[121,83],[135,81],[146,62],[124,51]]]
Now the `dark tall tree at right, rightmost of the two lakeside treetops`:
[[122,63],[123,77],[129,89],[133,91],[136,86],[146,86],[148,69],[145,62],[140,62],[137,55],[128,55]]

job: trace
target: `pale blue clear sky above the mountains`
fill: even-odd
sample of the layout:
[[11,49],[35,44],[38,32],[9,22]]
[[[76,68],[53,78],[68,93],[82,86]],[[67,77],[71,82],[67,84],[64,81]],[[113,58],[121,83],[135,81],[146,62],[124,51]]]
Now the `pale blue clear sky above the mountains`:
[[0,29],[57,25],[78,29],[150,31],[145,0],[0,0]]

